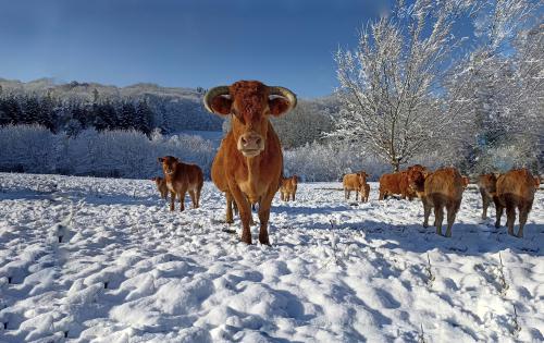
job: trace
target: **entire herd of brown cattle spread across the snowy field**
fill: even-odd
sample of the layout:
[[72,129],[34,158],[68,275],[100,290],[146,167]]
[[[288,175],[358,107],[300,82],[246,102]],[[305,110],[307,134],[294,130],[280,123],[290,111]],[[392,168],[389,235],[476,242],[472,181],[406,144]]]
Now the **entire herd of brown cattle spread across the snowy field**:
[[[214,87],[203,98],[205,107],[212,113],[231,117],[231,130],[221,142],[211,168],[211,179],[226,198],[226,222],[233,223],[233,209],[238,212],[243,232],[242,241],[251,244],[251,208],[259,205],[259,242],[269,245],[268,221],[274,195],[280,191],[281,199],[295,200],[298,177],[283,177],[283,156],[280,139],[269,118],[285,114],[295,108],[295,94],[284,87],[270,87],[257,81],[239,81],[231,86]],[[170,193],[170,210],[174,210],[175,198],[183,211],[185,194],[188,192],[194,208],[199,207],[203,184],[202,170],[172,156],[159,158],[164,177],[153,177],[163,198]],[[364,171],[347,174],[343,179],[346,199],[350,192],[368,201],[370,185]],[[428,226],[431,210],[434,210],[436,233],[442,235],[444,208],[447,211],[446,236],[452,236],[452,225],[459,210],[462,193],[469,179],[455,168],[431,171],[416,164],[405,171],[384,174],[380,177],[379,199],[400,195],[403,199],[420,198]],[[523,225],[531,210],[540,179],[527,169],[511,170],[505,174],[485,174],[478,180],[482,195],[483,213],[494,201],[495,226],[506,208],[508,233],[514,235],[516,208],[519,210],[518,236],[523,236]]]

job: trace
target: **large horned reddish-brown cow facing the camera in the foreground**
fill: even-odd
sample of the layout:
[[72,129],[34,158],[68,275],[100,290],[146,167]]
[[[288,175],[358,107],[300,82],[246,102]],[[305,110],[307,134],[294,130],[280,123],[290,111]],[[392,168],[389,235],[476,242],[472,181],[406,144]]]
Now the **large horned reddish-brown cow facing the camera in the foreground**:
[[269,118],[290,111],[297,103],[296,96],[283,87],[239,81],[208,90],[203,102],[212,113],[232,114],[231,130],[221,142],[211,172],[213,183],[226,196],[226,221],[232,222],[234,198],[242,219],[242,241],[251,244],[250,204],[258,201],[259,242],[270,244],[270,207],[280,188],[283,155]]

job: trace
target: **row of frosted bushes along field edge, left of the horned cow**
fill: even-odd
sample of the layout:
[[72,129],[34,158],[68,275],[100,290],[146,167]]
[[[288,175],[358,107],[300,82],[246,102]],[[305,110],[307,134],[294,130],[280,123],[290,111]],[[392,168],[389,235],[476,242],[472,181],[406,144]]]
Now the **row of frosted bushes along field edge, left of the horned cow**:
[[75,175],[149,177],[161,173],[157,157],[172,155],[202,168],[206,175],[215,154],[212,143],[198,136],[150,140],[137,131],[82,131],[77,136],[53,135],[36,125],[0,128],[0,169]]

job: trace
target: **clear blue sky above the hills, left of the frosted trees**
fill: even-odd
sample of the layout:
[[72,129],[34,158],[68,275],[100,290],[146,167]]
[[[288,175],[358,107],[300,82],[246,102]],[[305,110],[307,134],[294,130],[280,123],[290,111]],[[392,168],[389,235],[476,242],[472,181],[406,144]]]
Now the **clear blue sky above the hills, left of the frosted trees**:
[[0,0],[0,77],[211,87],[302,97],[337,85],[333,53],[384,10],[373,0]]

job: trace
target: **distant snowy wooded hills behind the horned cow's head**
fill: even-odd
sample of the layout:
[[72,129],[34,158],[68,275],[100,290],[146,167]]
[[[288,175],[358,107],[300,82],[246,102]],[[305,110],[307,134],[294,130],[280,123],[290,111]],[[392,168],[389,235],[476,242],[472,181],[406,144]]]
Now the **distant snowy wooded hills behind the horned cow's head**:
[[[184,132],[194,134],[196,132],[221,132],[225,128],[223,124],[228,124],[223,118],[206,111],[202,97],[207,89],[203,88],[161,87],[150,83],[116,87],[75,81],[58,83],[52,78],[39,78],[27,83],[0,78],[0,87],[4,95],[14,94],[26,97],[36,95],[57,99],[62,103],[60,109],[55,108],[57,114],[52,124],[57,128],[60,127],[58,131],[71,130],[73,123],[67,119],[75,115],[73,103],[83,105],[85,108],[86,103],[97,101],[95,97],[98,98],[98,102],[118,103],[118,111],[120,111],[120,103],[124,101],[136,103],[145,100],[152,111],[149,128],[159,127],[166,135]],[[24,101],[21,102],[24,105]],[[292,113],[274,118],[272,122],[284,147],[295,148],[321,140],[322,134],[332,130],[334,113],[337,113],[338,108],[339,102],[334,95],[316,99],[299,99],[297,108]],[[100,111],[95,112],[100,113]],[[95,112],[89,110],[83,115],[94,117]],[[39,114],[36,115],[39,117]],[[118,115],[121,114],[118,113]],[[96,123],[97,121],[96,118],[87,118],[87,122]]]

